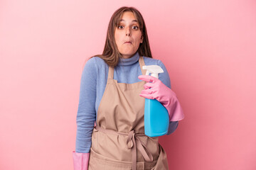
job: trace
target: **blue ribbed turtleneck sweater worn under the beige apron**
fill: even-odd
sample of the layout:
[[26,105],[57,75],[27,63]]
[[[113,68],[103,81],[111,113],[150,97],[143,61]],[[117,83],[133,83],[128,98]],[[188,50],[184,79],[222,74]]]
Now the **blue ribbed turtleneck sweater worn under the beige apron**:
[[[143,57],[145,65],[159,65],[164,69],[164,73],[159,74],[159,79],[171,89],[171,82],[166,67],[160,60]],[[82,70],[80,84],[80,96],[77,115],[77,135],[75,142],[75,152],[88,153],[92,143],[92,130],[97,118],[97,110],[107,84],[109,67],[100,57],[92,57],[85,64]],[[127,59],[119,59],[119,63],[114,67],[114,79],[118,83],[133,84],[138,81],[142,70],[139,67],[139,53]],[[178,121],[170,122],[170,135],[176,130]]]

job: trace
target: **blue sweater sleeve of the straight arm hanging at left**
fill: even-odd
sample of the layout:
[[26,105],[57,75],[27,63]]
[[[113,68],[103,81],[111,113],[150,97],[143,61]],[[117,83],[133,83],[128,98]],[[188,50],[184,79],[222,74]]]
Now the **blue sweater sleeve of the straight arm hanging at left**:
[[91,58],[82,70],[78,115],[76,118],[77,134],[75,152],[89,153],[92,144],[92,130],[95,125],[96,111],[97,67],[95,59]]

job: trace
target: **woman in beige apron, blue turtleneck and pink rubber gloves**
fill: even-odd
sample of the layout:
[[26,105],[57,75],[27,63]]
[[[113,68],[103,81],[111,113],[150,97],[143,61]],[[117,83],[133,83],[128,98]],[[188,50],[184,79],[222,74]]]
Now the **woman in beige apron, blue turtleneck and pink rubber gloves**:
[[[145,64],[157,64],[164,73],[146,76]],[[156,98],[167,109],[170,135],[183,119],[170,88],[166,67],[151,57],[141,13],[117,9],[102,55],[91,57],[82,72],[74,169],[169,169],[158,137],[144,135],[144,101]]]

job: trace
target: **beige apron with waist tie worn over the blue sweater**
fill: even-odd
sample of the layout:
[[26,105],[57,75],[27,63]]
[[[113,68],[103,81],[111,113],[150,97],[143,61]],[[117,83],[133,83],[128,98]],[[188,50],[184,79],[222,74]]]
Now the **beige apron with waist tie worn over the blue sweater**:
[[[144,66],[143,57],[139,65]],[[142,69],[142,74],[145,74]],[[107,85],[92,132],[89,170],[155,169],[167,170],[166,152],[158,137],[144,135],[144,102],[139,96],[145,81],[117,83],[109,67]]]

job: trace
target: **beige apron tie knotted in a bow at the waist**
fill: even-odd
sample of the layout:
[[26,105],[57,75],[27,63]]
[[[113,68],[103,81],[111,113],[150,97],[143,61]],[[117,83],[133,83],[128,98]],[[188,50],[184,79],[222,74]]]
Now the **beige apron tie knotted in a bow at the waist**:
[[134,130],[131,130],[128,134],[123,132],[117,132],[114,130],[106,130],[104,128],[100,128],[100,126],[98,125],[96,125],[95,129],[101,132],[109,133],[109,134],[128,135],[127,147],[129,149],[132,149],[132,170],[136,170],[137,149],[139,150],[139,152],[142,153],[142,156],[146,162],[153,162],[152,154],[149,153],[148,149],[146,148],[146,145],[137,137],[137,136],[145,136],[144,134],[136,134]]

